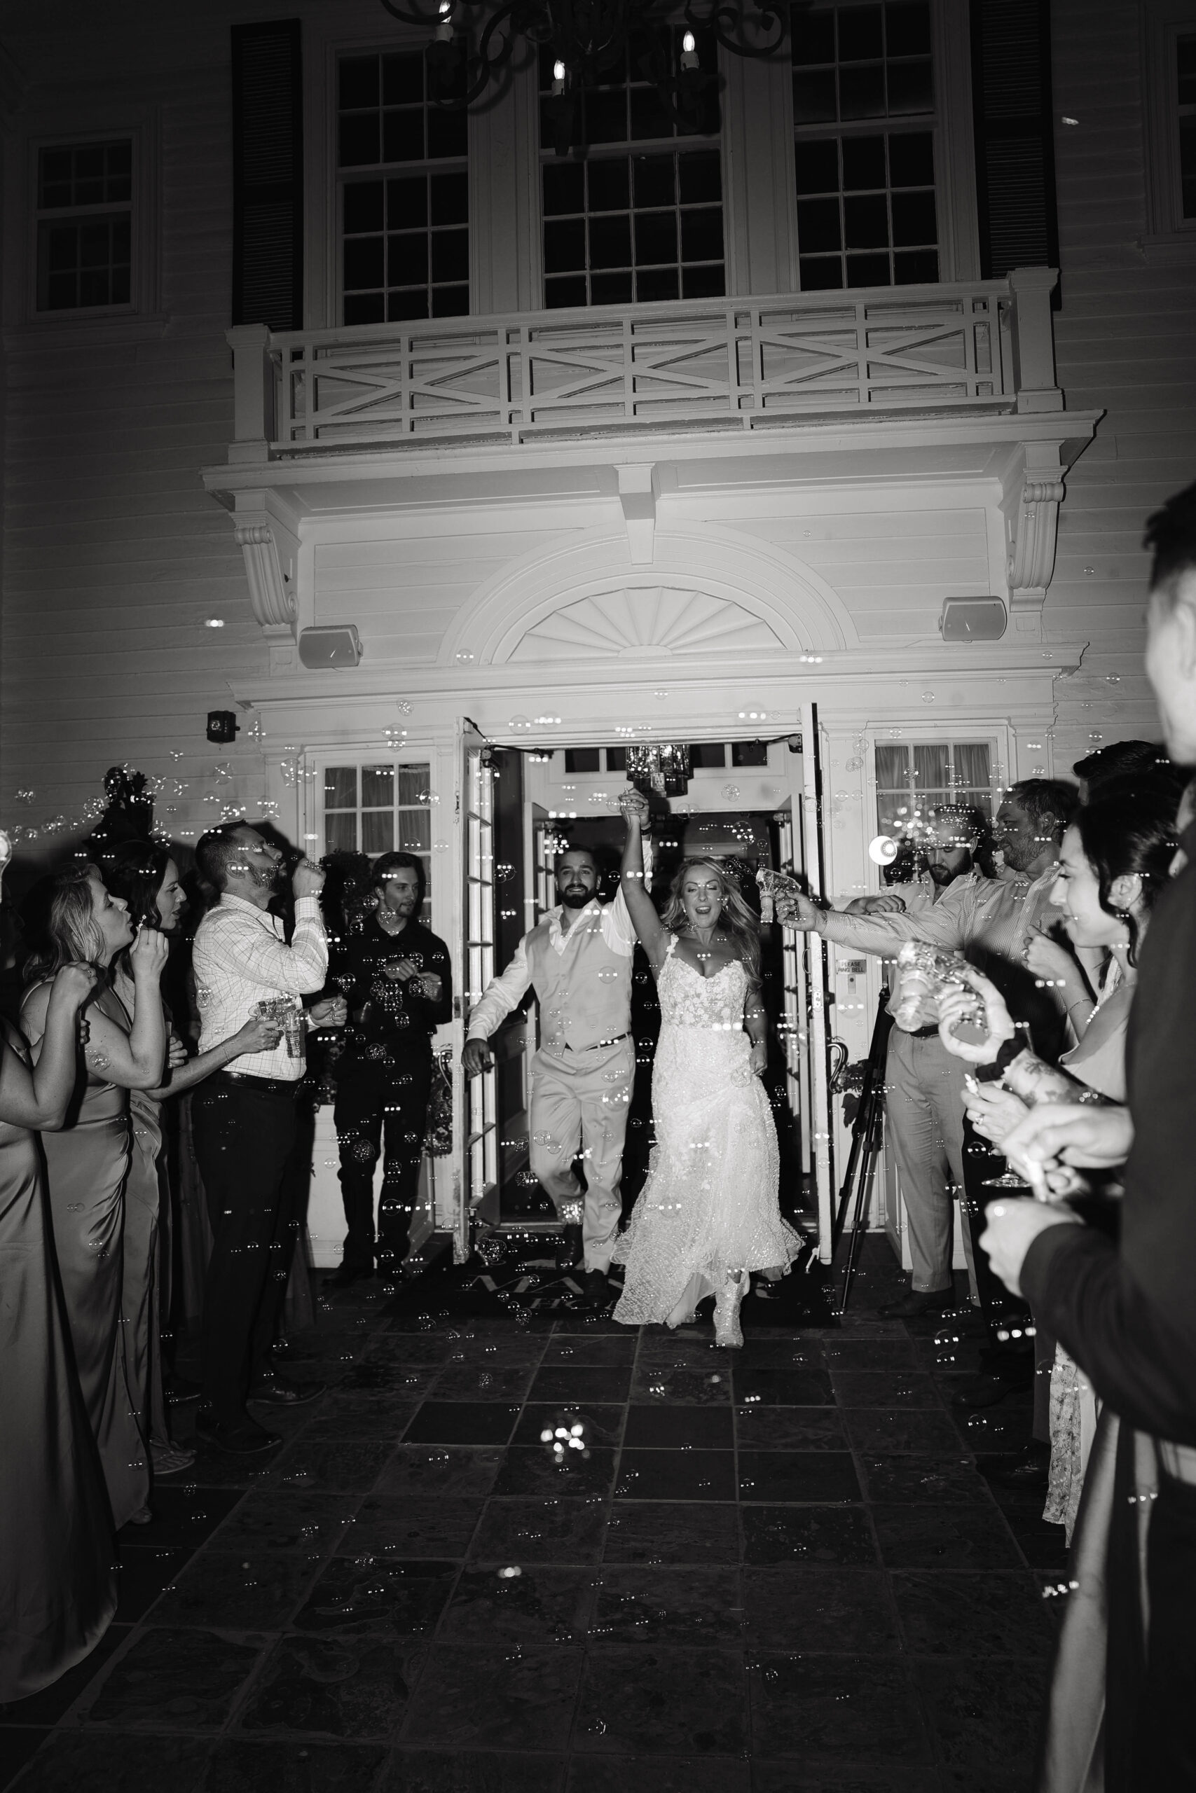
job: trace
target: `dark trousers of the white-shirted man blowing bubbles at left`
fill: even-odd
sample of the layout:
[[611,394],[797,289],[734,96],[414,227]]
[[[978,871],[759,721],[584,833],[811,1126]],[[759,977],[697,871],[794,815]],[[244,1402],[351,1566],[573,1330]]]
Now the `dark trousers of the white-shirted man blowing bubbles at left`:
[[276,1273],[287,1255],[282,1182],[294,1144],[298,1085],[222,1072],[192,1097],[195,1158],[212,1257],[203,1302],[203,1399],[235,1425],[273,1343]]

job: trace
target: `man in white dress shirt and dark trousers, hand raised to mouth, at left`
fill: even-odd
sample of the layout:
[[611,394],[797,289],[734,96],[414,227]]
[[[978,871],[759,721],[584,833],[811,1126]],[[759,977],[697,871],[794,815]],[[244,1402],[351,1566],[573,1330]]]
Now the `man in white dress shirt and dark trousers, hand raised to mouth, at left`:
[[278,1024],[269,1051],[233,1058],[192,1101],[195,1158],[212,1223],[197,1431],[222,1451],[249,1456],[282,1442],[246,1411],[253,1382],[258,1399],[283,1406],[319,1391],[292,1388],[269,1356],[290,1259],[283,1237],[290,1217],[280,1212],[280,1192],[296,1137],[308,1020],[337,1024],[344,1017],[335,999],[307,1013],[301,1002],[328,975],[319,866],[301,859],[290,875],[294,936],[287,945],[283,925],[269,909],[283,877],[283,855],[274,845],[240,823],[204,834],[195,861],[201,877],[219,891],[192,952],[199,1051],[212,1051],[251,1015],[267,1013]]

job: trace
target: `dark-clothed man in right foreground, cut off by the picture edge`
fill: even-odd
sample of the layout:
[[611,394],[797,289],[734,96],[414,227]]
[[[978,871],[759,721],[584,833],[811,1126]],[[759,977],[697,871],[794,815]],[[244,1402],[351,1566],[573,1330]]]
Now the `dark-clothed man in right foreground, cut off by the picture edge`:
[[[1167,751],[1196,766],[1196,486],[1151,516],[1155,552],[1146,674]],[[1001,1200],[983,1244],[1029,1298],[1119,1416],[1117,1492],[1106,1563],[1105,1687],[1108,1793],[1196,1788],[1196,825],[1187,864],[1158,898],[1142,945],[1126,1042],[1128,1108],[1040,1106],[1006,1139],[1020,1162],[1124,1162],[1121,1239],[1062,1207]],[[1133,1433],[1157,1461],[1140,1492]],[[1094,1447],[1096,1451],[1096,1447]],[[1135,1492],[1137,1490],[1137,1492]],[[1148,1612],[1119,1594],[1137,1565],[1133,1529],[1149,1501]],[[1081,1533],[1090,1503],[1081,1506]],[[1094,1669],[1099,1673],[1099,1667]],[[1056,1694],[1058,1698],[1058,1694]],[[1054,1782],[1053,1782],[1054,1784]],[[1085,1782],[1087,1784],[1087,1782]]]

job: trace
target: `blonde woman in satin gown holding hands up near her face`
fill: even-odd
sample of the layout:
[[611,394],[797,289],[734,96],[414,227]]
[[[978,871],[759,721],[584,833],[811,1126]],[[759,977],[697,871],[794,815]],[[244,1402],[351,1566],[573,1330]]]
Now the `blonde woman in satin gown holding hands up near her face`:
[[[39,1060],[56,974],[75,961],[102,977],[88,1002],[84,1076],[61,1131],[43,1135],[54,1246],[82,1400],[95,1433],[117,1529],[149,1520],[149,1458],[122,1325],[129,1090],[161,1083],[167,1036],[158,981],[165,938],[133,927],[95,866],[59,873],[47,891],[45,941],[27,968],[22,1027]],[[111,988],[113,959],[129,954],[133,1013]]]

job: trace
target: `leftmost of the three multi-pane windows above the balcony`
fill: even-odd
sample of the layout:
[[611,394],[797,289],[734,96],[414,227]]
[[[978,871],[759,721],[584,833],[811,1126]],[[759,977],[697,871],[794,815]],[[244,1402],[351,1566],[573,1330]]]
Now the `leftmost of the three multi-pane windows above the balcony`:
[[[421,52],[341,59],[337,163],[346,325],[461,317],[470,310],[466,115],[439,104],[443,93]],[[369,176],[359,176],[366,169]]]

